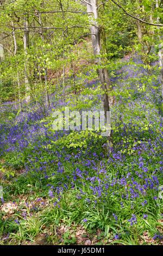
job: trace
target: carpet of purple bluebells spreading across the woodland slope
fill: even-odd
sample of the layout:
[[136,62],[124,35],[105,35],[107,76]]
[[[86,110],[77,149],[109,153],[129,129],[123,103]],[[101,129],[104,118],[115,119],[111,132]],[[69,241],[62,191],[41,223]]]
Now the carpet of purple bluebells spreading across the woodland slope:
[[[134,62],[142,64],[139,57],[135,57]],[[90,223],[90,216],[94,216],[92,212],[96,210],[97,225],[101,222],[103,227],[104,220],[108,221],[110,217],[109,220],[114,219],[115,224],[126,220],[130,227],[141,220],[137,212],[147,219],[147,211],[157,212],[160,209],[158,187],[163,185],[163,118],[158,109],[160,77],[153,78],[152,84],[145,80],[146,90],[143,90],[142,80],[149,76],[145,68],[136,69],[126,63],[115,72],[116,78],[111,77],[111,81],[114,90],[118,89],[120,94],[111,107],[114,128],[111,154],[105,150],[105,138],[97,141],[88,138],[86,148],[55,145],[53,142],[60,138],[66,140],[70,131],[50,131],[48,120],[41,121],[45,118],[42,109],[33,105],[29,111],[24,105],[15,119],[3,120],[0,124],[0,155],[6,160],[4,167],[23,169],[20,176],[27,184],[39,184],[40,189],[46,187],[44,193],[54,210],[61,210],[67,200],[65,212],[71,216],[71,211],[78,208],[80,223]],[[96,89],[98,84],[98,80],[91,81],[85,87]],[[124,90],[129,94],[123,94]],[[46,108],[47,115],[52,113],[52,109],[76,106],[71,96],[63,102],[58,99],[58,94],[61,93],[57,91],[51,95],[51,108]],[[103,109],[102,95],[97,95],[96,99],[93,95],[82,95],[80,100],[93,102],[84,110]],[[10,102],[4,104],[1,110],[6,111],[8,106]],[[10,176],[15,187],[20,176],[16,177],[17,181]],[[8,179],[5,174],[1,178]],[[77,206],[72,206],[72,200]],[[82,207],[87,209],[86,213]],[[37,210],[35,204],[33,210]],[[130,215],[124,212],[130,212]],[[23,217],[26,218],[24,212]],[[118,237],[116,235],[115,239]]]

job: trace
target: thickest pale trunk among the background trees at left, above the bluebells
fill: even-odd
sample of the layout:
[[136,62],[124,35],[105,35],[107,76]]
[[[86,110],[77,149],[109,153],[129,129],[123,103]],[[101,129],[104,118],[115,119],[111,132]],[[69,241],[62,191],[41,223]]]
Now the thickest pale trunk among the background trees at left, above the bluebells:
[[29,25],[28,25],[28,15],[24,15],[24,53],[26,55],[26,61],[24,63],[24,71],[25,71],[25,88],[26,88],[26,102],[30,101],[30,83],[29,83],[29,72],[28,72],[28,44],[29,44]]

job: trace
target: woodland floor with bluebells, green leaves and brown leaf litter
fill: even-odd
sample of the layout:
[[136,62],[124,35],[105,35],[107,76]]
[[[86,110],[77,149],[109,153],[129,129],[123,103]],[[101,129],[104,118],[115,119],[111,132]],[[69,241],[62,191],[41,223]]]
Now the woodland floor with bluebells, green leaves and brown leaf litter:
[[118,65],[111,154],[98,132],[49,128],[56,109],[102,110],[97,80],[83,84],[76,103],[71,88],[65,103],[56,87],[47,118],[34,104],[1,108],[1,245],[163,244],[158,64],[149,71],[135,57]]

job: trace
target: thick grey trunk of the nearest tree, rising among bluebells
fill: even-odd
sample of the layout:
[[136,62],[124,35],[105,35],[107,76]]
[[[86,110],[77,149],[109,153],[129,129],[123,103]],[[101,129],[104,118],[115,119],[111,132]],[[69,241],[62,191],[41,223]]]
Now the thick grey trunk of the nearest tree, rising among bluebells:
[[[110,113],[110,105],[111,104],[111,97],[110,97],[110,90],[112,89],[111,82],[109,79],[108,70],[106,68],[99,68],[102,64],[101,55],[101,44],[100,44],[100,28],[97,22],[98,19],[98,12],[97,12],[97,0],[87,0],[87,12],[92,12],[93,14],[89,14],[90,16],[90,32],[92,38],[92,47],[93,53],[95,56],[95,62],[98,65],[97,73],[99,77],[99,81],[101,82],[101,87],[104,91],[103,94],[103,106],[104,106],[104,113],[105,113],[105,120],[107,120],[107,113]],[[111,131],[108,131],[108,151],[111,151]]]

